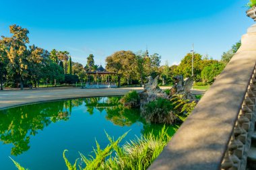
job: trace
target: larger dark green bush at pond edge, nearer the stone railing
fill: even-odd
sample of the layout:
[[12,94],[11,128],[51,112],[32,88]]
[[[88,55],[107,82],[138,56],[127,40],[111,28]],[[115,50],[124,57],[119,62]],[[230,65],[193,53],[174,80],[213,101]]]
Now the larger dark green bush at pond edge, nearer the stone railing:
[[148,122],[155,124],[173,124],[176,120],[170,100],[162,98],[158,98],[146,104],[141,111],[141,116]]

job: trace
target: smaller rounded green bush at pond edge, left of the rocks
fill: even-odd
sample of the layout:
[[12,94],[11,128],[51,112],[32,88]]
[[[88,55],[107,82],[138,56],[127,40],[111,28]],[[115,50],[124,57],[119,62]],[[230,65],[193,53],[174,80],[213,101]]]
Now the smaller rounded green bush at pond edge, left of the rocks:
[[132,90],[126,93],[120,100],[125,108],[138,108],[140,104],[140,97],[137,91]]

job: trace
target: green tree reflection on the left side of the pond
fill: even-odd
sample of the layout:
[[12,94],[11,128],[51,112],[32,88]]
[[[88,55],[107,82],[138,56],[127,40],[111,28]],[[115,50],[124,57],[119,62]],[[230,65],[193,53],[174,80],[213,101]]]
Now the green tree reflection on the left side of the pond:
[[[11,155],[20,155],[30,148],[30,136],[43,130],[51,122],[69,120],[71,114],[67,108],[69,101],[55,101],[23,105],[0,110],[0,140],[4,144],[13,144]],[[66,106],[66,107],[65,107]]]

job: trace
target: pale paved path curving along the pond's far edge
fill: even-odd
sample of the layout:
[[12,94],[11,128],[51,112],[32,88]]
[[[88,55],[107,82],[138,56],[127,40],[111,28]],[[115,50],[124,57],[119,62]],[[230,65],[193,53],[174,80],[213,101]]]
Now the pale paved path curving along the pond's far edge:
[[[162,87],[167,89],[170,87]],[[132,89],[142,91],[141,87],[126,87],[117,89],[81,89],[78,87],[56,87],[48,89],[25,89],[0,91],[0,109],[9,108],[26,103],[38,103],[57,99],[71,99],[78,97],[100,97],[110,95],[124,95]],[[200,94],[203,91],[193,91]]]

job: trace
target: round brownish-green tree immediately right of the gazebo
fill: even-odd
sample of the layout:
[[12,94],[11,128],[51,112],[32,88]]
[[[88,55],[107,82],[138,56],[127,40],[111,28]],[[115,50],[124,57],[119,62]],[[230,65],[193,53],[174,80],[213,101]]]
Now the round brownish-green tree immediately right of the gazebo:
[[121,50],[106,58],[106,69],[117,73],[118,87],[120,87],[121,77],[130,76],[135,69],[135,63],[133,52]]

